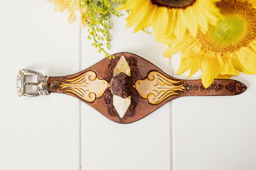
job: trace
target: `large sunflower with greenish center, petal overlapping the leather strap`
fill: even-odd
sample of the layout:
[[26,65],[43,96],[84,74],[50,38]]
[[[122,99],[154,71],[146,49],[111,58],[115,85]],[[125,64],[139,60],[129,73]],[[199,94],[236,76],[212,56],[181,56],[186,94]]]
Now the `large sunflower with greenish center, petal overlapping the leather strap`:
[[164,36],[160,42],[172,45],[164,56],[178,51],[181,55],[178,74],[190,70],[193,75],[202,68],[202,83],[208,87],[214,78],[230,78],[256,74],[256,2],[254,0],[222,0],[216,4],[223,15],[217,25],[209,25],[204,34],[198,31],[196,38],[186,34],[182,42]]

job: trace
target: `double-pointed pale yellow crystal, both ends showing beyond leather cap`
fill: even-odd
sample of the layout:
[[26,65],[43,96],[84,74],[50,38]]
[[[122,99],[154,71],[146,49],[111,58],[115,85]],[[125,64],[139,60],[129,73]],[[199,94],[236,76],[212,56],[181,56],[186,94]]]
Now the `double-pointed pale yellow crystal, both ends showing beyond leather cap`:
[[[117,74],[119,74],[121,72],[123,72],[127,76],[131,76],[130,67],[123,55],[119,59],[118,63],[116,64],[116,67],[114,69],[114,76],[116,76]],[[128,109],[128,107],[130,106],[130,104],[131,104],[131,96],[128,96],[123,99],[123,98],[113,94],[113,105],[115,106],[116,111],[117,111],[118,115],[120,116],[120,118],[124,117],[124,114],[125,114],[126,110]]]

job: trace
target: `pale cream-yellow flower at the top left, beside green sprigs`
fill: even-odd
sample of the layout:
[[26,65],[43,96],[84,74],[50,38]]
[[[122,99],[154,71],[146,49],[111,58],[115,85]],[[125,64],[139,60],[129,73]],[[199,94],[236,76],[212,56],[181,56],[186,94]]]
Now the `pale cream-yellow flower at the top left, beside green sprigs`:
[[53,11],[63,12],[67,10],[68,24],[76,19],[81,27],[86,24],[86,20],[90,21],[88,17],[85,17],[87,8],[82,5],[81,0],[46,0],[46,2],[56,5]]

